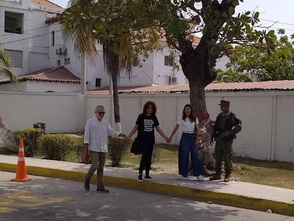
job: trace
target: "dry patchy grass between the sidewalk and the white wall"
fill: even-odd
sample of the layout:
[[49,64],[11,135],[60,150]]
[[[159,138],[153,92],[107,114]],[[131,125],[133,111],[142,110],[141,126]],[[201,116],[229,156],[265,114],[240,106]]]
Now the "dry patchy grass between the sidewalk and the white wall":
[[[159,158],[152,164],[151,171],[178,174],[178,146],[156,144],[155,148],[158,149],[156,152],[158,152]],[[78,162],[77,151],[72,151],[66,159]],[[122,159],[121,167],[138,170],[140,159],[141,155],[136,156],[128,150]],[[260,161],[241,157],[234,157],[233,162],[232,177],[236,180],[294,189],[294,163]],[[110,166],[109,160],[106,165]]]

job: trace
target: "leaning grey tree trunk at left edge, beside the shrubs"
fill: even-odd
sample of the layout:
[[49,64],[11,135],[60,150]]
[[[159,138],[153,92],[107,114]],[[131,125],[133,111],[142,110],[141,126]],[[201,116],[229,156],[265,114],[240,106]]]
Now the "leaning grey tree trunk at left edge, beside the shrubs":
[[18,146],[13,134],[0,115],[0,138],[4,142],[5,148],[13,153],[18,153]]

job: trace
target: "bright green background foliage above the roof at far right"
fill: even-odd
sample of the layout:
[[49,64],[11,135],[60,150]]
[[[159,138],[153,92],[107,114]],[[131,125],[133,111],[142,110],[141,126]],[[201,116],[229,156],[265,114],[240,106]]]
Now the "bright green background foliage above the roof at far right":
[[271,47],[268,39],[261,47],[236,45],[230,51],[230,71],[246,72],[257,80],[294,80],[294,36],[289,39],[283,29],[278,34],[279,39],[273,31],[267,34]]

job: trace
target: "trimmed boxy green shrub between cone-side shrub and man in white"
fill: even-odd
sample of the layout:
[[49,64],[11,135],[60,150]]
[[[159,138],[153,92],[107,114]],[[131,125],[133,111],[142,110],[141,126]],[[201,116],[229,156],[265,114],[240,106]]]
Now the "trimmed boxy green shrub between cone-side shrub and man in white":
[[62,134],[47,134],[40,137],[40,153],[50,160],[65,159],[73,146],[77,143],[76,138]]

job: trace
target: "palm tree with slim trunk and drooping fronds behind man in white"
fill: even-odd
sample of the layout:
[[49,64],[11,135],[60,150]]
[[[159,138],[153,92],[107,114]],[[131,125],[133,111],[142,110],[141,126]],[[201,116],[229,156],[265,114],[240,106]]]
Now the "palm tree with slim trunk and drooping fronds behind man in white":
[[[132,45],[134,28],[131,25],[135,19],[130,18],[132,16],[130,11],[135,10],[129,10],[128,7],[134,7],[134,4],[128,4],[124,0],[98,2],[71,0],[69,8],[62,13],[60,19],[65,39],[73,38],[75,41],[77,55],[85,55],[88,60],[94,61],[97,55],[97,43],[103,46],[104,67],[113,85],[114,120],[119,131],[121,131],[117,88],[119,74],[122,70],[128,74],[131,72],[132,60],[141,50],[136,50],[138,45]],[[143,36],[146,36],[146,33],[143,33]],[[143,36],[140,39],[143,39]]]

